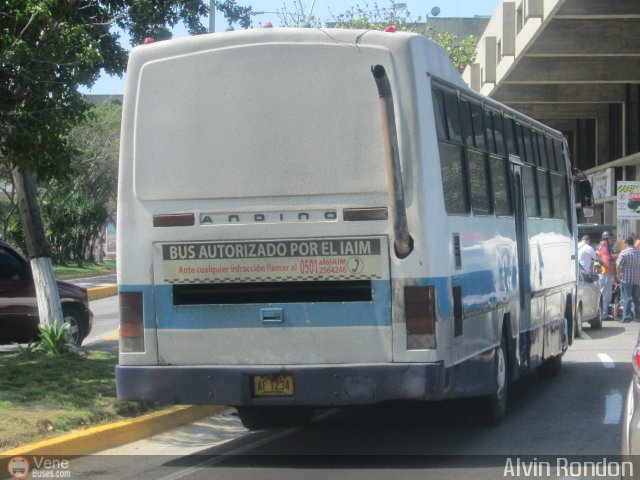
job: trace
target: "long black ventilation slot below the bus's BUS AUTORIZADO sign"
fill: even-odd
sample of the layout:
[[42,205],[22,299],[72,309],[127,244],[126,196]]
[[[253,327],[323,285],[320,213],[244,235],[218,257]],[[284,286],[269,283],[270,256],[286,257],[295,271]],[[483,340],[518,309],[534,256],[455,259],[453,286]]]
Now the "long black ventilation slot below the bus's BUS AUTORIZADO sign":
[[174,305],[370,302],[368,280],[333,282],[220,283],[173,286]]

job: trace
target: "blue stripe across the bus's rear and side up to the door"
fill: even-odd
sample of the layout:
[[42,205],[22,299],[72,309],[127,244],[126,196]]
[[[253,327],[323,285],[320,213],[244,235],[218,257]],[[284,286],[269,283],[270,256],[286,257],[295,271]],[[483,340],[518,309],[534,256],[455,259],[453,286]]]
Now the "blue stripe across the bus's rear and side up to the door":
[[[470,272],[453,277],[422,278],[417,285],[436,287],[441,317],[453,315],[450,285],[462,287],[463,312],[466,316],[496,308],[516,295],[515,268],[496,275],[491,270]],[[380,327],[391,325],[391,295],[388,280],[372,282],[372,302],[286,303],[244,305],[174,306],[172,285],[120,285],[122,292],[143,293],[145,328],[206,329],[252,327]],[[156,298],[154,299],[154,292]],[[262,308],[282,308],[284,322],[268,325],[260,320]],[[154,320],[158,316],[158,323]]]

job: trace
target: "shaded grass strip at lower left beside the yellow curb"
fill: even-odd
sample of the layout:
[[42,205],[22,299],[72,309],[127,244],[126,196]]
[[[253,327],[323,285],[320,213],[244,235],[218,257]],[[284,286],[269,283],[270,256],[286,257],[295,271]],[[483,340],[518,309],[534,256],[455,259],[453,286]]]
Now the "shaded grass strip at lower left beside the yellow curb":
[[116,399],[117,354],[0,355],[0,450],[156,410]]

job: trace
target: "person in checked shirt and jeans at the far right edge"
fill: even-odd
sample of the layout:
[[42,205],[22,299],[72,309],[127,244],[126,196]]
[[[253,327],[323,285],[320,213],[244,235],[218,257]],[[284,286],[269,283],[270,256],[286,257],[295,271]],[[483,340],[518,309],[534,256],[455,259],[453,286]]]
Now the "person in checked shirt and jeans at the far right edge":
[[[622,323],[632,319],[640,321],[640,250],[634,247],[633,237],[624,240],[625,249],[620,252],[616,273],[622,289]],[[633,303],[633,309],[631,304]]]

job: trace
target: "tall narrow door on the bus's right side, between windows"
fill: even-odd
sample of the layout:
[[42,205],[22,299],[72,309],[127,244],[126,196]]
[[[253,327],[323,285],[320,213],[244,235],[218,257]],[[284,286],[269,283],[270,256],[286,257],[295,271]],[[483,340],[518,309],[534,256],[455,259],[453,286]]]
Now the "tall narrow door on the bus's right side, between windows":
[[[531,329],[531,282],[529,279],[529,236],[527,233],[527,208],[522,182],[522,162],[515,155],[509,155],[516,246],[518,250],[518,325],[520,336],[520,363],[528,368],[531,341],[526,332]],[[514,332],[515,333],[515,332]],[[523,335],[524,334],[524,335]]]

